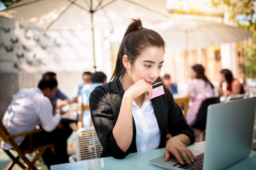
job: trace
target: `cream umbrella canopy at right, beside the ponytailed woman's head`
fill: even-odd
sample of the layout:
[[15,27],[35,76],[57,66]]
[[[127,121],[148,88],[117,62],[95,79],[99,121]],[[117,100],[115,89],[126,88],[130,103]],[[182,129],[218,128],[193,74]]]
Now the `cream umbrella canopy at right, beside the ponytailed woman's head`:
[[252,36],[252,32],[239,27],[195,18],[168,20],[157,24],[154,29],[164,38],[167,48],[178,50],[206,48]]

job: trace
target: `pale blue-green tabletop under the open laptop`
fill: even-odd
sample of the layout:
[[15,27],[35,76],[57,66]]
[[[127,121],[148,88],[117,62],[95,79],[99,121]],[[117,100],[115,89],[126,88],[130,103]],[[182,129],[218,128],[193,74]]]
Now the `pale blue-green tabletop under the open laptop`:
[[[204,142],[195,143],[195,145],[189,146],[191,149],[204,150]],[[79,162],[72,162],[67,164],[59,164],[51,166],[51,170],[58,169],[83,169],[83,170],[93,170],[93,169],[104,169],[104,170],[127,170],[127,169],[154,169],[162,170],[163,168],[154,166],[149,163],[149,160],[161,157],[164,155],[164,148],[157,150],[149,150],[147,152],[131,153],[125,157],[125,159],[115,159],[113,157],[105,157],[93,160],[83,160]],[[252,151],[249,157],[237,162],[226,170],[241,170],[241,169],[255,169],[256,167],[256,152]]]

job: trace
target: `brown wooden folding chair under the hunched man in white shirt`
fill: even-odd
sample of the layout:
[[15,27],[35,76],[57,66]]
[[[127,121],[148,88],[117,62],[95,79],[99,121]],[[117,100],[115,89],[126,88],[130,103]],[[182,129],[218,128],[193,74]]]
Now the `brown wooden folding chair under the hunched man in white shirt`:
[[[0,141],[9,143],[12,146],[12,150],[15,150],[15,152],[18,153],[17,157],[15,157],[10,152],[10,150],[3,149],[4,152],[10,157],[10,159],[12,159],[12,162],[10,162],[10,164],[6,167],[6,169],[12,169],[12,167],[15,164],[18,164],[22,169],[37,169],[35,167],[35,162],[42,156],[42,154],[45,152],[45,150],[47,148],[51,148],[52,151],[54,151],[54,145],[52,143],[41,145],[41,146],[36,146],[36,147],[33,146],[32,134],[35,134],[36,132],[42,132],[42,131],[43,131],[42,129],[36,129],[34,131],[10,135],[9,132],[7,131],[7,129],[4,127],[3,123],[0,121]],[[17,145],[17,143],[15,143],[15,141],[13,139],[18,136],[29,136],[29,149],[28,150],[25,150],[25,151],[20,150],[19,146]],[[26,157],[25,154],[33,153],[34,151],[36,153],[36,156],[31,162]],[[22,162],[20,162],[19,158],[22,159],[22,161],[24,162],[25,165],[22,164]]]

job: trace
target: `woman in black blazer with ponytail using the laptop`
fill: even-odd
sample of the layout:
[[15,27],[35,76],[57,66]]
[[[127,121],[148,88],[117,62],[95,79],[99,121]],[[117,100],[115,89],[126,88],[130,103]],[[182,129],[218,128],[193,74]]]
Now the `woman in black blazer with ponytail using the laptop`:
[[[141,21],[132,20],[119,48],[113,81],[96,87],[90,96],[90,110],[102,156],[123,159],[132,152],[164,148],[165,160],[175,155],[183,164],[193,162],[186,147],[194,143],[187,124],[172,94],[150,100],[152,83],[159,77],[164,62],[164,41]],[[166,145],[166,130],[174,136]]]

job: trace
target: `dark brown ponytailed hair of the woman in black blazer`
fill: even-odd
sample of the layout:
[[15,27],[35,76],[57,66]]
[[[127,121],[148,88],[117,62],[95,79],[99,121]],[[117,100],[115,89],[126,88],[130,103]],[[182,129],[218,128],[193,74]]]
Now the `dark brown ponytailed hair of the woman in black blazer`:
[[122,62],[124,55],[127,55],[128,61],[133,64],[138,55],[150,46],[163,47],[164,49],[163,38],[156,31],[142,27],[140,19],[132,19],[119,47],[116,66],[111,80],[125,73],[125,67]]

